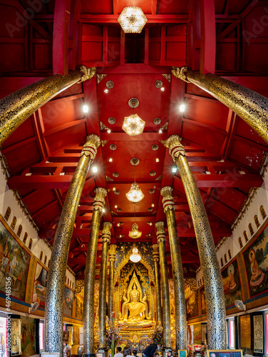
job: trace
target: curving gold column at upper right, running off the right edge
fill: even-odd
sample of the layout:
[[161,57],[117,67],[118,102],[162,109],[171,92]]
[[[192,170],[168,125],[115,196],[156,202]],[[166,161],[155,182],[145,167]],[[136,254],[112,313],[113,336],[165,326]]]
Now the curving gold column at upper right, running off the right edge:
[[240,84],[215,74],[200,74],[187,67],[172,67],[172,74],[182,81],[199,86],[232,109],[268,143],[268,99]]

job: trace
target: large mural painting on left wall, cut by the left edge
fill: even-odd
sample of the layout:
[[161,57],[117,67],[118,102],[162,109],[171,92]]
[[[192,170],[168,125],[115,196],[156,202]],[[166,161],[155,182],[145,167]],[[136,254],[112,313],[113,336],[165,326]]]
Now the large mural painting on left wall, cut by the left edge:
[[0,290],[6,292],[6,278],[11,281],[11,295],[25,300],[31,255],[27,253],[0,221]]

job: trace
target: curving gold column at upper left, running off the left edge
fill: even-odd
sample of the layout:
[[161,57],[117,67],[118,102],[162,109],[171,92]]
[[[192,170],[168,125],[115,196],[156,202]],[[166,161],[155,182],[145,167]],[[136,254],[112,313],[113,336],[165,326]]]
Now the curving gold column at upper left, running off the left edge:
[[91,79],[96,68],[80,66],[67,76],[55,74],[15,91],[0,101],[0,149],[4,141],[34,111],[73,84]]

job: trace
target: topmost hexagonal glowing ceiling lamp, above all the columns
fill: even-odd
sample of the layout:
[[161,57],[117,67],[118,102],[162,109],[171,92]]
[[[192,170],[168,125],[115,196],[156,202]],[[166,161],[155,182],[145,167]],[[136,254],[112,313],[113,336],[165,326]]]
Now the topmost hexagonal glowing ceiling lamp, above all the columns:
[[118,22],[125,34],[140,34],[147,22],[143,10],[138,6],[125,7],[118,17]]

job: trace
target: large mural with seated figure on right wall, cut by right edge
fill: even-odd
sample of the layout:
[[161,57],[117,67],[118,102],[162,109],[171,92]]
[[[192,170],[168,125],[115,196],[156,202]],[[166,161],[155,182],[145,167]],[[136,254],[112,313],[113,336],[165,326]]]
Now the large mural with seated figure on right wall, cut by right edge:
[[244,253],[250,297],[268,290],[268,227]]

